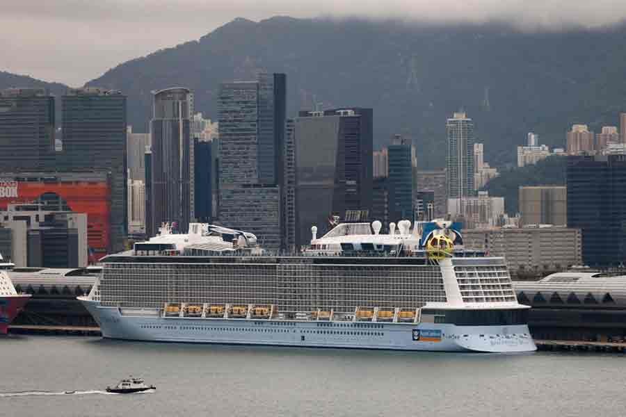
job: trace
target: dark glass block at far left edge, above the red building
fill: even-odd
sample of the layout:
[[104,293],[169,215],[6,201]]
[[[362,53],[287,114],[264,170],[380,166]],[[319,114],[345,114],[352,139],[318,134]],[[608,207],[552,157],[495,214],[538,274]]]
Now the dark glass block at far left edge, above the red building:
[[0,91],[0,172],[54,170],[54,97],[40,88]]

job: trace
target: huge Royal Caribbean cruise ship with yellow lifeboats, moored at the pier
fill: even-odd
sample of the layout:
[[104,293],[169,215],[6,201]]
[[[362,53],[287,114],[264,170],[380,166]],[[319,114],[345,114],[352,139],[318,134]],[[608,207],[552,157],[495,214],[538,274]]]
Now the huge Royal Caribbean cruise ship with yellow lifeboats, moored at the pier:
[[337,224],[297,256],[212,224],[102,259],[79,297],[104,338],[445,352],[531,352],[504,259],[442,220]]

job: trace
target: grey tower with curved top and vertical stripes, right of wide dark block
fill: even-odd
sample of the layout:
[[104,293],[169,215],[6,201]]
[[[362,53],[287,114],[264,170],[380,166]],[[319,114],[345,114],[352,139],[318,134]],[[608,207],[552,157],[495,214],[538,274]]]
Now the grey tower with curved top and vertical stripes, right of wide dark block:
[[186,88],[152,92],[150,221],[156,233],[161,223],[175,223],[186,232],[194,216],[193,142],[191,121],[193,94]]

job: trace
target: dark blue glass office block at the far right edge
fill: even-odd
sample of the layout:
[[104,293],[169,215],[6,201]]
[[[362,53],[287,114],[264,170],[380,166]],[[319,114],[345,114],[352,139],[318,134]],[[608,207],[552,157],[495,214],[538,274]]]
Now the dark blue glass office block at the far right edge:
[[626,155],[570,156],[568,227],[582,230],[585,265],[626,263]]

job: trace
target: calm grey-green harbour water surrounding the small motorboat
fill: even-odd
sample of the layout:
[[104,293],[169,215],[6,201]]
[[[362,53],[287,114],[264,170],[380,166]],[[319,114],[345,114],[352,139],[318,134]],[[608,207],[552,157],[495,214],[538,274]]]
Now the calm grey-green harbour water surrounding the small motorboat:
[[[129,374],[157,391],[102,391]],[[626,357],[13,335],[0,338],[0,416],[626,416]]]

